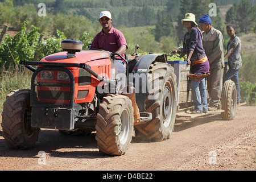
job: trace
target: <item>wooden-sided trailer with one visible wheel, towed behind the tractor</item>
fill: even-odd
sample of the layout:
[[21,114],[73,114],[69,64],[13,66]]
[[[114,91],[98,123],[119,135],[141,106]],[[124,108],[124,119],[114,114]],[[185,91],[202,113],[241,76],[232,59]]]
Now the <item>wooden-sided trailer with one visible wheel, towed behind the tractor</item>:
[[[191,114],[193,109],[193,99],[191,90],[191,80],[187,77],[187,74],[191,71],[191,66],[187,64],[187,61],[167,61],[174,67],[174,73],[176,75],[177,82],[177,117],[201,117],[208,114],[221,114],[222,119],[232,120],[236,115],[237,110],[237,90],[233,81],[228,80],[222,85],[221,92],[221,109],[215,111],[208,111],[203,114]],[[224,75],[228,71],[228,61],[225,61]],[[207,78],[205,79],[205,86],[207,88]],[[209,101],[209,94],[207,92],[207,98]],[[245,102],[240,105],[246,104]]]

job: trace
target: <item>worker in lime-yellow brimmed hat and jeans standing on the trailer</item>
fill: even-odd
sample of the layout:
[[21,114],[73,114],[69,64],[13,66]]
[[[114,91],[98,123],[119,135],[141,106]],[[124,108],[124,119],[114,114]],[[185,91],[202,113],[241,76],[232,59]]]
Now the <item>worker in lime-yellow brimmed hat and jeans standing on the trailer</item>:
[[[188,64],[191,64],[193,75],[206,75],[209,72],[209,61],[203,48],[203,35],[197,27],[196,17],[192,13],[185,14],[181,23],[188,32],[183,39],[183,53],[187,54]],[[205,78],[191,81],[193,105],[195,109],[192,114],[202,114],[208,112],[207,93],[205,88]]]

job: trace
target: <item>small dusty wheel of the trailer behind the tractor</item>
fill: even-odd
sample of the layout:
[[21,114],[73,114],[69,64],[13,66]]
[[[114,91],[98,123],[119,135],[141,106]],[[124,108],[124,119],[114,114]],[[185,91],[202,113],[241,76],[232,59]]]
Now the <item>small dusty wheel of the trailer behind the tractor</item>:
[[225,110],[221,113],[222,119],[233,120],[237,110],[237,89],[232,80],[225,81],[221,92],[221,106]]

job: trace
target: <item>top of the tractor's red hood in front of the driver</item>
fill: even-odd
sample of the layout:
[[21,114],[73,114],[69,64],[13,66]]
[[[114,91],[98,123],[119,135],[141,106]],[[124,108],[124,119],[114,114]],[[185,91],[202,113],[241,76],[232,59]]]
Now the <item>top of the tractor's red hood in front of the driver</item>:
[[109,52],[101,50],[82,50],[76,52],[75,56],[68,57],[68,52],[58,52],[44,57],[43,62],[56,62],[56,63],[89,63],[90,61],[110,59]]

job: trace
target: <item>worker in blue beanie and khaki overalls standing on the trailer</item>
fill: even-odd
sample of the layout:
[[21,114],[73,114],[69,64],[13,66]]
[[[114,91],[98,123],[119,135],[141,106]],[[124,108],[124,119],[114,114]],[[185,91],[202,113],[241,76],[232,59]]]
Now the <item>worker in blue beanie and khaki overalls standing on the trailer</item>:
[[210,64],[210,75],[207,77],[207,89],[210,97],[208,110],[221,109],[221,87],[224,73],[223,35],[212,26],[209,15],[201,16],[199,20],[203,30],[203,47]]

